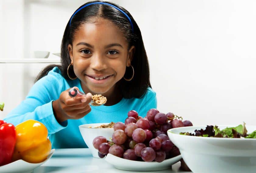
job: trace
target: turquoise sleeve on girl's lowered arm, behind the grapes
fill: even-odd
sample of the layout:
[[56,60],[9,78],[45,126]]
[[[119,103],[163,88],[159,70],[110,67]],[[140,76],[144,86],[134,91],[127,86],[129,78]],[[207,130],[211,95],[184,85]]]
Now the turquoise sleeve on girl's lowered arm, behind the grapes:
[[157,108],[156,92],[149,88],[144,97],[143,104],[138,112],[139,116],[142,116],[143,118],[147,115],[149,109]]

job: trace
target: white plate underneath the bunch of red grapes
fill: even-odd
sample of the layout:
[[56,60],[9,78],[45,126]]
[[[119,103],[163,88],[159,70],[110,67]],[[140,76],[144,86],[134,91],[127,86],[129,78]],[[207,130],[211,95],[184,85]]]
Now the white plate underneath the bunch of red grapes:
[[126,171],[160,171],[171,168],[171,165],[181,160],[181,155],[166,159],[160,163],[152,161],[133,161],[107,154],[105,160],[115,168]]

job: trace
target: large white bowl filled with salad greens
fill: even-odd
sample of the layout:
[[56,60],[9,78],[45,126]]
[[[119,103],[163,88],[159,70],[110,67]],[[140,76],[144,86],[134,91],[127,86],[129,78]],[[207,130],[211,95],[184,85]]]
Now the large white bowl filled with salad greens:
[[[219,125],[220,130],[237,125]],[[194,173],[202,172],[256,172],[256,139],[209,138],[179,135],[180,132],[194,133],[205,126],[172,128],[167,131],[170,140],[179,148],[181,156]],[[246,126],[249,133],[256,126]]]

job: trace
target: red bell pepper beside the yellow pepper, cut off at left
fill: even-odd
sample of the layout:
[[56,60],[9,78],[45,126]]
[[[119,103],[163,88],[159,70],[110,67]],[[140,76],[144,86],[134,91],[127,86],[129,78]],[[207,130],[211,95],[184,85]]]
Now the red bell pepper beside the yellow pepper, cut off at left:
[[0,120],[0,166],[11,163],[15,144],[15,126]]

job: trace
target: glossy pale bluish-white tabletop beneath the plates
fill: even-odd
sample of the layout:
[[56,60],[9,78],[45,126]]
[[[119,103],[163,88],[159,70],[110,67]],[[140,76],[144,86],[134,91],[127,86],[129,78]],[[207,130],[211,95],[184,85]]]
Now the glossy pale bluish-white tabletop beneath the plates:
[[[180,172],[188,173],[180,170],[181,162],[174,164],[172,168],[163,171],[150,171],[151,173],[171,173]],[[43,172],[61,172],[61,173],[73,173],[73,172],[93,172],[93,173],[126,173],[137,171],[123,171],[114,168],[104,159],[93,158],[88,148],[72,148],[72,149],[56,149],[52,158],[40,167],[34,169],[34,173]]]

